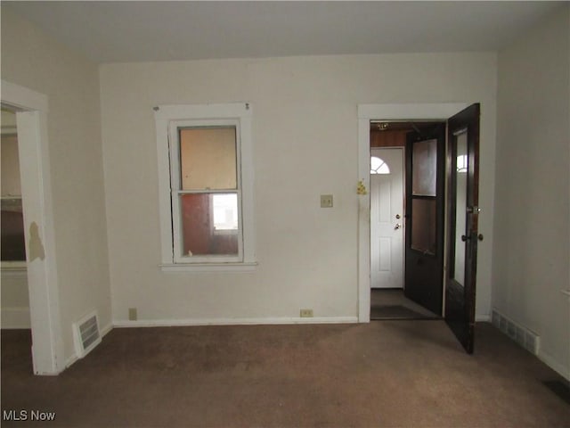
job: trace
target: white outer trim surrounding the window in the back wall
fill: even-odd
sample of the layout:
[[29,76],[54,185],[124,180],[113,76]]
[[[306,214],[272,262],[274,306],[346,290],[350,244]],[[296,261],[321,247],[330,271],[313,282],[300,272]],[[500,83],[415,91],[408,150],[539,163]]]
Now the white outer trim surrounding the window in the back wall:
[[[159,218],[161,260],[159,267],[163,271],[208,271],[208,270],[251,270],[256,267],[254,201],[253,201],[253,147],[251,133],[252,108],[249,103],[224,104],[181,104],[160,105],[154,108],[157,155],[159,161]],[[240,260],[200,258],[186,262],[175,259],[173,241],[173,219],[171,211],[170,150],[168,144],[169,128],[173,123],[184,121],[212,121],[212,123],[233,122],[238,125],[240,141],[237,158],[240,162],[240,196],[242,248]]]

